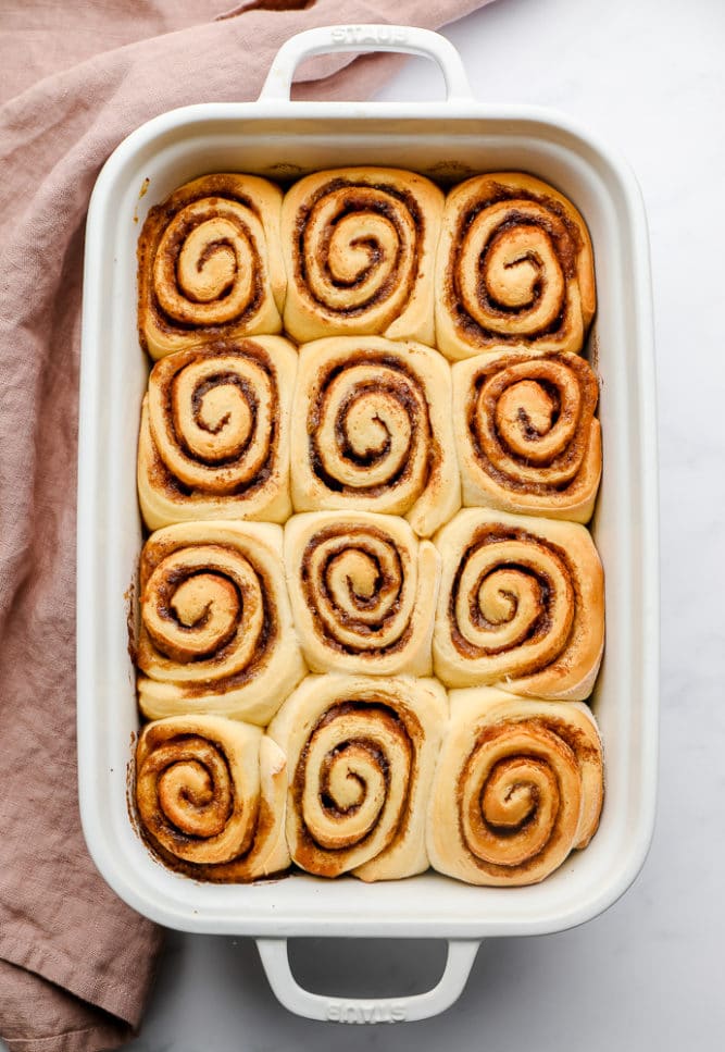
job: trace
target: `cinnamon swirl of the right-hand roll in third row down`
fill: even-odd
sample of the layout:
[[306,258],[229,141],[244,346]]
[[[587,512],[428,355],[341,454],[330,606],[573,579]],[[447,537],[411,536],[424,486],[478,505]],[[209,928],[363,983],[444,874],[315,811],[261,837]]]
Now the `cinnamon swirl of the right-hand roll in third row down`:
[[497,655],[502,674],[530,674],[563,652],[574,610],[563,553],[540,537],[484,531],[453,582],[453,643],[477,658]]

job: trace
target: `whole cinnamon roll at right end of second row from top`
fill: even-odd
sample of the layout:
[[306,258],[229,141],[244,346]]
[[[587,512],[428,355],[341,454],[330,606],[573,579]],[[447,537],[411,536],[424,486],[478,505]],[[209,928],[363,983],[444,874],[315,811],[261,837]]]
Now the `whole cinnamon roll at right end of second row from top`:
[[577,355],[479,355],[452,369],[463,504],[588,522],[601,478],[599,385]]

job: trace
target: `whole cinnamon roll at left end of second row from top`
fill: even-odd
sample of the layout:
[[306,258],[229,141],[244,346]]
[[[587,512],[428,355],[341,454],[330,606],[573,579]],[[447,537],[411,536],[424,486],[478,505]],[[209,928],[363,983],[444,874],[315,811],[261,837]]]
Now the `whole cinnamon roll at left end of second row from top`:
[[150,530],[192,519],[284,522],[297,351],[220,341],[157,362],[141,410],[138,494]]

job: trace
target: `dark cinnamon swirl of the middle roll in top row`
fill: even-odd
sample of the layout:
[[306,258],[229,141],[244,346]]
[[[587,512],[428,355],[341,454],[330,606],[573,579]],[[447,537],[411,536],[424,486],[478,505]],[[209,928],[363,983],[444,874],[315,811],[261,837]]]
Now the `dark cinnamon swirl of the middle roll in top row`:
[[302,288],[333,314],[408,300],[417,268],[420,218],[385,186],[329,184],[302,213]]

